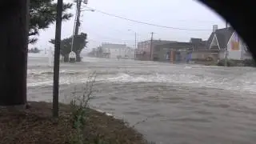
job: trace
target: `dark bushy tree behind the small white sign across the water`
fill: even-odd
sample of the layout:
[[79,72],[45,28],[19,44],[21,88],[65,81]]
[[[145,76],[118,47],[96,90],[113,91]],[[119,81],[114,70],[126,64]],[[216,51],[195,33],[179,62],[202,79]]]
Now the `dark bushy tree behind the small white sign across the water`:
[[[77,62],[81,61],[81,51],[86,47],[86,38],[87,34],[86,33],[81,33],[78,34],[77,36],[74,36],[74,46],[73,46],[73,51],[77,55]],[[54,44],[55,40],[51,39],[50,43]],[[71,52],[71,45],[72,45],[72,36],[70,38],[64,38],[62,39],[61,42],[61,54],[64,57],[64,62],[69,61],[69,54]]]

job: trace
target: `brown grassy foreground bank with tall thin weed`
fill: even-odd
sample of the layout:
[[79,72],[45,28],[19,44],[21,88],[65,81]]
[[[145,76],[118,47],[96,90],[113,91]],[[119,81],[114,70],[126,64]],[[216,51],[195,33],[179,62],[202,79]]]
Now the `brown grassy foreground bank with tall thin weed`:
[[0,144],[144,144],[147,143],[123,120],[92,110],[94,74],[82,95],[71,95],[70,104],[59,103],[59,117],[52,117],[52,103],[30,102],[26,110],[0,106]]

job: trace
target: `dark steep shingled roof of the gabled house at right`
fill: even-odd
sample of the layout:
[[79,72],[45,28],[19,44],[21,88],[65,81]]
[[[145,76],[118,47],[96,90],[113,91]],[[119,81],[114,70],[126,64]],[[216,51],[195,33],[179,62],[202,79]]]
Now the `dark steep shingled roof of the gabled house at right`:
[[210,48],[210,43],[213,41],[214,34],[216,34],[218,45],[221,50],[226,49],[227,42],[230,40],[230,37],[234,33],[234,29],[232,27],[227,27],[223,29],[218,29],[210,34],[210,38],[207,41],[207,47]]

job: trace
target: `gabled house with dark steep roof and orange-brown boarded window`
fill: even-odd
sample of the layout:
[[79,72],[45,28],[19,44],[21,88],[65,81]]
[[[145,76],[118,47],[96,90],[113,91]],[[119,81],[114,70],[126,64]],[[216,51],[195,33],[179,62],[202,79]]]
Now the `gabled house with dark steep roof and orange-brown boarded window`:
[[206,46],[214,58],[222,59],[226,57],[234,60],[252,58],[246,43],[242,41],[242,38],[232,27],[218,29],[218,26],[214,25]]

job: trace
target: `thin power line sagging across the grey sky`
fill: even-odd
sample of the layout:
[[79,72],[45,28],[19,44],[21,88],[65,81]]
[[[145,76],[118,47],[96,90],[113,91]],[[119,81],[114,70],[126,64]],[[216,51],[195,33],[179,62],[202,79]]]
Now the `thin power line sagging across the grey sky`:
[[96,10],[96,9],[90,8],[88,6],[86,6],[86,7],[91,9],[91,10],[94,10],[95,12],[101,13],[101,14],[106,14],[106,15],[111,16],[111,17],[121,18],[121,19],[124,19],[126,21],[136,22],[136,23],[140,23],[140,24],[144,24],[144,25],[148,25],[148,26],[157,26],[157,27],[162,27],[162,28],[166,28],[166,29],[173,29],[173,30],[210,31],[210,29],[186,29],[186,28],[179,28],[179,27],[172,27],[172,26],[161,26],[161,25],[157,25],[157,24],[154,24],[154,23],[141,22],[141,21],[138,21],[138,20],[125,18],[125,17],[119,16],[119,15],[106,13],[102,10]]

